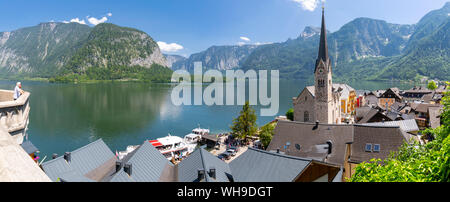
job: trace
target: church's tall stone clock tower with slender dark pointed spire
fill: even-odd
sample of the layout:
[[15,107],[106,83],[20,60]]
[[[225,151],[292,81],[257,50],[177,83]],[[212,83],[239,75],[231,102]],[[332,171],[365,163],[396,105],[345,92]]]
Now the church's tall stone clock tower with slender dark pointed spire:
[[322,28],[320,32],[319,56],[314,70],[315,118],[320,123],[334,123],[334,100],[331,61],[328,57],[325,8],[322,6]]

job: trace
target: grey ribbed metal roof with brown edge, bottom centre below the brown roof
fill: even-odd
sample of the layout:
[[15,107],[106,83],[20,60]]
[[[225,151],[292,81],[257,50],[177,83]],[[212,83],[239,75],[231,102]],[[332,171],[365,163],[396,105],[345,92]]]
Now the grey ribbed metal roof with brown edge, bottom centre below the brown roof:
[[235,182],[341,181],[340,166],[248,148],[229,163]]

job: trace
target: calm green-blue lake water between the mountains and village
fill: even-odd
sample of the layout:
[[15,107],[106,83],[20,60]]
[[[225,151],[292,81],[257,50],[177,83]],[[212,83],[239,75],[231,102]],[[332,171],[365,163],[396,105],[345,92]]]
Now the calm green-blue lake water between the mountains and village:
[[[0,89],[13,89],[16,81],[0,81]],[[279,115],[292,107],[292,97],[311,82],[280,81]],[[355,89],[376,90],[392,86],[409,89],[413,84],[384,82],[348,83]],[[102,138],[113,150],[141,144],[168,133],[184,137],[193,128],[228,132],[242,106],[174,106],[175,85],[145,83],[50,84],[22,82],[31,92],[30,140],[50,159]],[[270,88],[269,88],[270,89]],[[274,119],[261,117],[258,125]],[[267,108],[267,107],[264,107]]]

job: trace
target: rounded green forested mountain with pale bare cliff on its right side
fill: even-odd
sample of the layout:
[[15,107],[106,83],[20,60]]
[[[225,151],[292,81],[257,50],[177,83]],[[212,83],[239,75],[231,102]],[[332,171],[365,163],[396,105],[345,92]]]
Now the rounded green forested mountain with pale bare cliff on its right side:
[[94,27],[82,48],[76,51],[67,68],[84,72],[87,68],[118,66],[166,65],[166,59],[156,42],[146,33],[110,23]]

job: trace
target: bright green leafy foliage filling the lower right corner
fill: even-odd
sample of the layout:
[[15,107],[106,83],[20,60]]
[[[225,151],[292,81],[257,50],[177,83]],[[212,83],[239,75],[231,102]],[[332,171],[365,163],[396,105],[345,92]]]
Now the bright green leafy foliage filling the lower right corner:
[[[447,82],[448,84],[448,82]],[[404,144],[382,161],[359,164],[351,182],[450,182],[450,93],[442,98],[442,125],[427,129],[434,140],[426,145]],[[383,164],[380,164],[383,162]]]

